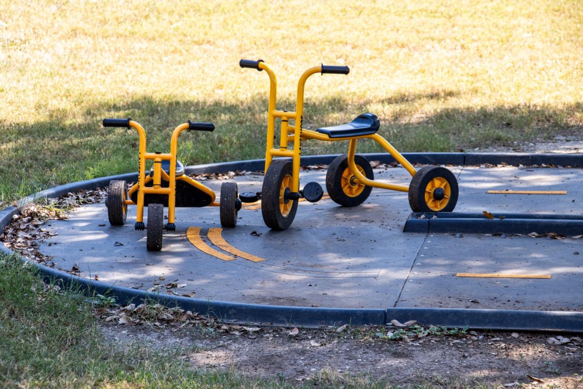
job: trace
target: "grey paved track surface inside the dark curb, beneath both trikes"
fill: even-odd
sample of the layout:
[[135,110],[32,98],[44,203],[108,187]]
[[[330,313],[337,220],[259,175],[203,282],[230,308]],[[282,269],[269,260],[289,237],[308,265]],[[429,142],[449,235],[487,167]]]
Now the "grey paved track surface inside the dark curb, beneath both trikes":
[[[401,167],[374,165],[375,180],[410,179]],[[459,181],[455,212],[493,213],[497,219],[504,213],[581,213],[581,169],[448,168]],[[324,183],[326,170],[313,166],[301,174],[303,183]],[[230,180],[240,192],[261,190],[261,174]],[[218,192],[223,181],[203,182]],[[39,250],[53,258],[55,269],[75,267],[84,278],[209,304],[583,310],[580,234],[405,233],[410,213],[406,193],[378,189],[354,208],[326,197],[315,204],[302,201],[293,225],[283,232],[264,225],[258,204],[244,205],[233,229],[221,228],[218,208],[178,208],[176,231],[165,232],[162,250],[150,252],[145,231],[134,230],[135,206],[129,206],[124,226],[110,226],[101,202],[74,209],[68,220],[47,222],[44,228],[56,234]]]

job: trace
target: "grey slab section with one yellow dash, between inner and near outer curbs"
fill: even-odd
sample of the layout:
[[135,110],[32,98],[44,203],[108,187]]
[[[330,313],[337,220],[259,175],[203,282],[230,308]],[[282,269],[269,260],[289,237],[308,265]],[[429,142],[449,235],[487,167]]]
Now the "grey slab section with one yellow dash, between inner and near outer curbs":
[[[396,307],[583,310],[583,240],[430,234]],[[466,278],[457,273],[550,275]]]

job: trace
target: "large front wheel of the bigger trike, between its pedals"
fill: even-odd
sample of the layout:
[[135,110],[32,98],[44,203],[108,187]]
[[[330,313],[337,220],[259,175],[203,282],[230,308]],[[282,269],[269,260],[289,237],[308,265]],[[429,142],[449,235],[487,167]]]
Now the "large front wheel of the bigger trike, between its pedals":
[[273,161],[267,169],[261,190],[261,214],[272,230],[287,230],[296,217],[297,200],[283,199],[286,188],[291,190],[291,161]]

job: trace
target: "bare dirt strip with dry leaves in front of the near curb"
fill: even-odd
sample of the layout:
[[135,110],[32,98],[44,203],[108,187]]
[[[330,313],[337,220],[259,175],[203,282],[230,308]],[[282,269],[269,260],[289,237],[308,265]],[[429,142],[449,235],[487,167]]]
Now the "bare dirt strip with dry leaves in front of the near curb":
[[366,375],[391,384],[440,376],[476,379],[493,387],[512,383],[516,387],[520,383],[545,388],[583,386],[577,376],[583,373],[583,346],[578,338],[550,345],[549,334],[477,332],[405,342],[375,339],[374,333],[362,331],[299,330],[291,336],[289,328],[262,328],[252,334],[221,335],[199,327],[103,327],[105,337],[115,344],[136,342],[154,349],[195,346],[196,351],[184,354],[194,368],[230,369],[254,377],[306,381],[324,372]]

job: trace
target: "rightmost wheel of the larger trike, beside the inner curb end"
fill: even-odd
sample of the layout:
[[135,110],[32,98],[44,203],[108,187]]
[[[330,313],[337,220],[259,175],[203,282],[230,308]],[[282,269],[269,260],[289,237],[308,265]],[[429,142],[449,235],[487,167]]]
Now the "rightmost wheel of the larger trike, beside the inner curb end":
[[[439,193],[438,188],[441,188]],[[458,180],[445,167],[422,167],[409,184],[409,205],[413,212],[452,212],[458,195]]]

